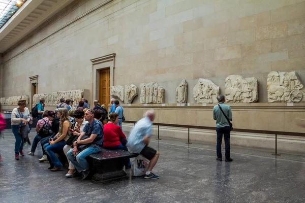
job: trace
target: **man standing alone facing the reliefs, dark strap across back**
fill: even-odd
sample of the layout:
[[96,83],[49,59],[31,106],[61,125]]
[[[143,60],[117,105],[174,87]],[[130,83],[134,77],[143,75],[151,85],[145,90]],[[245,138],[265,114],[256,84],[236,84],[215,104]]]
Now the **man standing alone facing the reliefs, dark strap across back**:
[[[216,105],[213,109],[213,118],[214,120],[216,120],[216,133],[217,133],[216,160],[222,161],[221,143],[222,143],[222,137],[224,136],[225,147],[226,147],[225,161],[233,161],[233,159],[230,157],[231,127],[228,120],[225,117],[226,115],[228,119],[232,121],[232,111],[230,106],[224,103],[226,101],[226,97],[223,94],[218,95],[217,100],[219,101],[220,104]],[[221,110],[223,110],[224,113]]]

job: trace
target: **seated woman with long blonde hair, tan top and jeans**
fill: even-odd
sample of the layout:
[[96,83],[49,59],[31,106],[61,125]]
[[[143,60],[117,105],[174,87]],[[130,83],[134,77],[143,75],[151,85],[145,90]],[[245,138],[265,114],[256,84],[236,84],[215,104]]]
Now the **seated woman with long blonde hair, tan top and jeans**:
[[57,158],[55,152],[62,151],[64,149],[66,141],[70,135],[70,132],[68,131],[70,121],[67,108],[59,108],[57,116],[60,118],[59,131],[54,138],[50,138],[49,143],[43,146],[50,163],[48,168],[52,172],[60,171],[63,166],[63,164],[60,163],[59,159]]

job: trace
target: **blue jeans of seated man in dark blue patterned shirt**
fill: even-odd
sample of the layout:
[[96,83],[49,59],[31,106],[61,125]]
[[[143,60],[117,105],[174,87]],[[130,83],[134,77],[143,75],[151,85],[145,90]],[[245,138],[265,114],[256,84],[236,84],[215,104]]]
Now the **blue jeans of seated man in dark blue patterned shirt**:
[[90,166],[88,162],[86,161],[86,157],[90,154],[95,154],[100,151],[100,147],[97,145],[91,145],[90,147],[84,149],[81,151],[77,156],[75,157],[72,152],[73,148],[69,150],[67,153],[68,159],[71,161],[71,163],[75,166],[76,170],[78,172],[82,172],[85,170],[89,170]]

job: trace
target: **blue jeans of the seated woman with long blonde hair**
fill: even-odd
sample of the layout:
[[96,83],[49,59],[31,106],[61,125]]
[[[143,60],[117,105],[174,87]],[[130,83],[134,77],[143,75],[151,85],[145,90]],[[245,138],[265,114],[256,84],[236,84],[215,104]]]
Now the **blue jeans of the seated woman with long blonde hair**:
[[51,166],[55,166],[55,167],[63,166],[63,164],[59,161],[59,159],[55,155],[55,152],[63,151],[65,145],[66,145],[66,141],[61,140],[58,143],[55,143],[53,145],[50,145],[50,143],[47,143],[43,146],[47,153],[48,161]]

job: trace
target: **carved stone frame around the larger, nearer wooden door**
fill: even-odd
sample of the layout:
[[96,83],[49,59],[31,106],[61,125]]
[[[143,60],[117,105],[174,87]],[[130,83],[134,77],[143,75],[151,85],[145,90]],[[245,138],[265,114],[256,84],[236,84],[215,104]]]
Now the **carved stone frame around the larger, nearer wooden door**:
[[[114,58],[115,53],[108,54],[105,56],[101,56],[98,58],[90,59],[92,62],[92,76],[93,76],[93,94],[92,94],[92,100],[96,100],[97,98],[100,98],[100,70],[102,69],[108,69],[110,68],[110,87],[114,84]],[[109,101],[110,101],[110,95],[109,95]],[[109,105],[109,104],[106,104]]]

